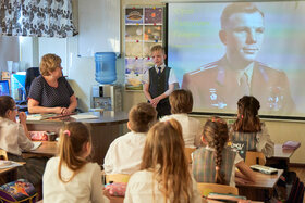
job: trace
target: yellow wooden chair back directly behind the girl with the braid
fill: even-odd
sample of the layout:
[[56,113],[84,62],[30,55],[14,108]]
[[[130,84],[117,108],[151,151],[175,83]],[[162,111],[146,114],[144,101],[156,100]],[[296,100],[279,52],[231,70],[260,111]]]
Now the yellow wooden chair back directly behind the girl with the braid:
[[197,182],[197,188],[202,196],[207,196],[211,192],[239,195],[237,188],[227,185]]

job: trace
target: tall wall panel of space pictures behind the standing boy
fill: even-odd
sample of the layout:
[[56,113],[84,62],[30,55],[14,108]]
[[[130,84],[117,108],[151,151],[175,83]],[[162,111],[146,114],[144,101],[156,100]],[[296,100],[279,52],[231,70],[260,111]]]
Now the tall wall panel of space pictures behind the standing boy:
[[143,90],[143,74],[154,65],[150,48],[163,46],[164,8],[126,7],[124,15],[125,89]]

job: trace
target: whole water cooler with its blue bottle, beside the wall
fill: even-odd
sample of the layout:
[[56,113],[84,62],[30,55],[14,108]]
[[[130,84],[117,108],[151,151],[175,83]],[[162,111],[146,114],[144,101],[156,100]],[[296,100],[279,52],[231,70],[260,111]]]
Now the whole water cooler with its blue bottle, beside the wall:
[[121,85],[113,84],[117,80],[115,60],[114,52],[95,53],[96,81],[101,85],[91,87],[91,109],[94,110],[123,110],[123,88]]

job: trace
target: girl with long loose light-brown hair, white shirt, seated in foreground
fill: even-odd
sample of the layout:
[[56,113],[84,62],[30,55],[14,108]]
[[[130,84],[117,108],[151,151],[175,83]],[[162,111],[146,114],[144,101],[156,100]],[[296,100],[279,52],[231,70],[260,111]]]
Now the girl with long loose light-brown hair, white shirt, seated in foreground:
[[157,123],[148,131],[141,170],[132,175],[124,202],[202,202],[175,119]]

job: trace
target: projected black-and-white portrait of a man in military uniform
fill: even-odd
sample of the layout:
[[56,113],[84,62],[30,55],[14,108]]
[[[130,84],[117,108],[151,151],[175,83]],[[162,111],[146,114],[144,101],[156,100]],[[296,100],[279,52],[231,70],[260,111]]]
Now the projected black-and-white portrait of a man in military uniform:
[[219,38],[225,54],[183,75],[182,88],[193,92],[196,109],[236,110],[240,98],[254,96],[264,112],[294,110],[285,73],[256,61],[264,31],[264,13],[254,3],[236,2],[224,8]]

